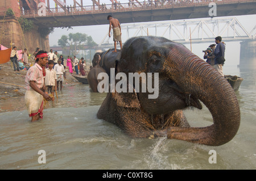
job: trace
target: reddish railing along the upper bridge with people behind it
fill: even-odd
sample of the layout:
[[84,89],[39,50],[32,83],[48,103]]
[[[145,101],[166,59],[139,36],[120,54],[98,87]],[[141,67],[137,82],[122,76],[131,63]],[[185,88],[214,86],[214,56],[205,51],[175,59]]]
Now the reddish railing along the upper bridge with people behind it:
[[[193,6],[208,6],[210,2],[215,2],[217,5],[230,3],[245,3],[255,2],[255,0],[161,0],[161,1],[144,1],[144,2],[129,2],[129,3],[113,3],[92,6],[79,7],[58,7],[47,8],[46,16],[66,16],[66,15],[80,15],[80,14],[99,14],[106,12],[124,12],[124,11],[143,11],[155,9],[171,9],[180,7]],[[22,10],[21,15],[24,18],[40,17],[39,9],[36,10]]]

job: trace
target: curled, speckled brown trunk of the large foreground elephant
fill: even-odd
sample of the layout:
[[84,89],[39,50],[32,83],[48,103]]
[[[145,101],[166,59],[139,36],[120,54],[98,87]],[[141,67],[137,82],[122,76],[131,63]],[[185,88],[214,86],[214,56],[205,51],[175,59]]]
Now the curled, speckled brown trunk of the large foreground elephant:
[[170,51],[166,62],[170,77],[186,94],[201,100],[213,117],[213,124],[209,127],[168,128],[168,138],[211,146],[232,140],[240,126],[240,108],[228,81],[185,48]]

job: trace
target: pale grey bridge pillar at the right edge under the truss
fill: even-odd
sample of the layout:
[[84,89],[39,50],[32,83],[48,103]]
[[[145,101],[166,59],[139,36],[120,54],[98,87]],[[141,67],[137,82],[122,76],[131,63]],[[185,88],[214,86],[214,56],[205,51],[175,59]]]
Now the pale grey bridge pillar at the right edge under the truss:
[[240,43],[240,68],[256,69],[256,40]]

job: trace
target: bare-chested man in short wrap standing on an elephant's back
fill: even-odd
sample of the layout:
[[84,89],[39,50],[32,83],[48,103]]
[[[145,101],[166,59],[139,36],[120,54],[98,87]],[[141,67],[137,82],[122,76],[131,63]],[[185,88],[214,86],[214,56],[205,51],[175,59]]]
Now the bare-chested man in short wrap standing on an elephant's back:
[[117,52],[117,41],[119,41],[120,48],[122,50],[121,26],[120,26],[119,20],[113,18],[112,15],[108,15],[108,20],[109,20],[109,37],[110,37],[111,27],[113,28],[113,39],[114,39],[114,46],[115,46],[115,50],[113,52]]

